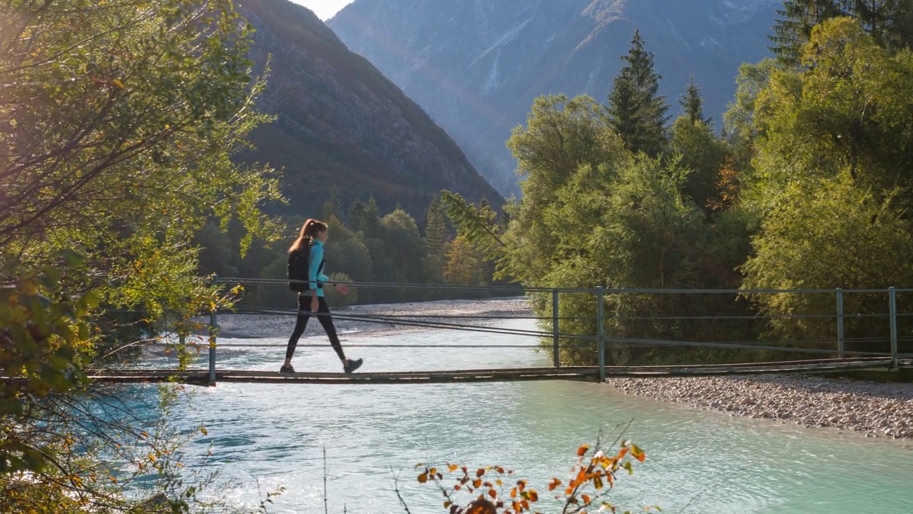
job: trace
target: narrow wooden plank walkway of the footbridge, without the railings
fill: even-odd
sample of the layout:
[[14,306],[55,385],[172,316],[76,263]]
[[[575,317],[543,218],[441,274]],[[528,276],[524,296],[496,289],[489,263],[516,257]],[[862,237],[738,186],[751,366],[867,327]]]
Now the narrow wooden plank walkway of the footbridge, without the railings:
[[[606,377],[698,377],[750,375],[767,373],[826,373],[852,370],[891,370],[891,359],[817,359],[782,362],[711,364],[679,366],[606,366]],[[898,361],[900,367],[911,367],[911,359]],[[101,382],[164,382],[209,384],[208,370],[173,369],[98,369],[89,378]],[[388,384],[388,383],[453,383],[524,380],[584,380],[599,381],[595,366],[562,368],[463,369],[440,371],[376,371],[366,373],[279,373],[266,370],[216,369],[215,382],[251,383],[331,383],[331,384]]]

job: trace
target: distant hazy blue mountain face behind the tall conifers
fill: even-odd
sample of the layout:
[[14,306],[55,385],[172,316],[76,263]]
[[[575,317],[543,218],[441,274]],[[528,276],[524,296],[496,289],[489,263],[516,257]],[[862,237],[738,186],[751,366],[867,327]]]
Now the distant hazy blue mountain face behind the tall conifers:
[[547,93],[605,102],[635,28],[656,54],[661,93],[694,75],[719,124],[742,62],[768,55],[780,0],[355,0],[328,25],[452,135],[504,193],[504,145]]

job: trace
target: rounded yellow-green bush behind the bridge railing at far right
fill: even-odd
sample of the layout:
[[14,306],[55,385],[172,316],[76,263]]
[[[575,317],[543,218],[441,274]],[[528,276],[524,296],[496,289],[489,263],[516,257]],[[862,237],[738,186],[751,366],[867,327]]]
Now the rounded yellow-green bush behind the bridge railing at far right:
[[[913,234],[908,220],[851,178],[821,178],[793,184],[752,239],[755,255],[743,266],[750,289],[884,288],[913,284]],[[766,315],[834,312],[825,294],[754,295]],[[845,312],[886,312],[886,294],[846,295]],[[904,308],[901,306],[901,310]],[[772,334],[786,338],[836,336],[830,319],[773,319]],[[849,323],[846,337],[887,337],[887,323]],[[872,344],[848,349],[872,351]],[[879,348],[885,350],[887,348]]]

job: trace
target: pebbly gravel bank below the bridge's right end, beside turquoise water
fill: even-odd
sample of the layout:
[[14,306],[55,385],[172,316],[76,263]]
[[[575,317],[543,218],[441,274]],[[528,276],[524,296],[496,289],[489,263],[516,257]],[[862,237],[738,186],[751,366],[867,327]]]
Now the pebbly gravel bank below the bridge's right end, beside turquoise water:
[[613,378],[628,394],[698,409],[865,433],[913,438],[913,384],[799,375],[758,377]]

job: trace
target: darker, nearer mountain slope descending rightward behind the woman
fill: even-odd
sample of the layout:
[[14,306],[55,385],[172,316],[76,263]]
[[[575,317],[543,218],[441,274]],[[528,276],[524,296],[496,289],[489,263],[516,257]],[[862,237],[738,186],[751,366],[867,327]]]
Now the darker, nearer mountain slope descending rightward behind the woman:
[[366,59],[349,51],[309,9],[287,0],[242,0],[256,29],[250,59],[271,73],[258,107],[277,116],[242,155],[283,169],[288,206],[316,216],[335,192],[343,205],[377,199],[421,214],[441,189],[499,205],[498,192],[444,130]]

